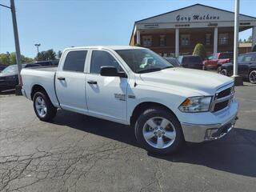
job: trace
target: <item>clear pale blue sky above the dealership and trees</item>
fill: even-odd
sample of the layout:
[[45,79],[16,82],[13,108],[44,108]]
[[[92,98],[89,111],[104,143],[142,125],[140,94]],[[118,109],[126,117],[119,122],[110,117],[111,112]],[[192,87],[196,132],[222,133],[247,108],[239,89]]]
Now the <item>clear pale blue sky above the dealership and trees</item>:
[[[10,0],[0,0],[10,6]],[[234,11],[234,0],[15,0],[21,53],[70,46],[128,45],[134,22],[195,3]],[[256,0],[240,0],[240,13],[256,17]],[[248,38],[251,30],[239,34]],[[14,52],[9,9],[0,6],[0,53]]]

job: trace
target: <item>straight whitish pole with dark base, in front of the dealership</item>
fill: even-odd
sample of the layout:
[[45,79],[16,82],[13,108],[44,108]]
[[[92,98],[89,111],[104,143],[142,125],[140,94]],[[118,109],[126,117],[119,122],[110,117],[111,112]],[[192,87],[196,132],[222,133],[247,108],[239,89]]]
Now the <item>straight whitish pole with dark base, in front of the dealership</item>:
[[233,78],[235,86],[242,86],[243,81],[242,77],[238,75],[238,34],[239,34],[239,0],[235,1],[235,10],[234,10],[234,70]]

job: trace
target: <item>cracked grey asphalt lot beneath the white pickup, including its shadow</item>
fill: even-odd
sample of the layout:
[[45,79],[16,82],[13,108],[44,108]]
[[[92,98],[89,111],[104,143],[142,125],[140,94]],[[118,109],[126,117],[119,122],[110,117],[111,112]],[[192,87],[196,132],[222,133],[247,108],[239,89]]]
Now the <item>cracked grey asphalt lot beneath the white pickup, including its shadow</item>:
[[0,96],[1,191],[255,191],[256,86],[236,87],[234,130],[178,154],[141,149],[134,130],[58,110],[40,122],[32,102]]

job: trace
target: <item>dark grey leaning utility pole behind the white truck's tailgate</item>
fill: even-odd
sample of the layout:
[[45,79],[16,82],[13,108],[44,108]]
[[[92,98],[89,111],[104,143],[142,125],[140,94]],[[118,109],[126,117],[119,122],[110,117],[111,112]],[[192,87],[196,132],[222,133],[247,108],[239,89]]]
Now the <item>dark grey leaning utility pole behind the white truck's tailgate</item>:
[[22,95],[22,77],[21,77],[22,56],[21,56],[21,51],[20,51],[19,42],[18,42],[18,27],[17,27],[14,0],[10,0],[10,10],[11,10],[12,18],[13,18],[14,41],[15,41],[15,50],[16,50],[16,62],[17,62],[17,65],[18,65],[18,85],[15,87],[15,94],[16,95]]

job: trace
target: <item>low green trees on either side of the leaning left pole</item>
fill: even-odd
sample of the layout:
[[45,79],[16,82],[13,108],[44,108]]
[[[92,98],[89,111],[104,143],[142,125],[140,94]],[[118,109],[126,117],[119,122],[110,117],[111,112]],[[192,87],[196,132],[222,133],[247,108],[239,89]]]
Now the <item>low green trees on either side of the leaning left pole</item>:
[[[27,58],[24,55],[22,55],[22,63],[32,62],[33,60],[34,60],[33,58]],[[6,52],[6,54],[0,54],[0,64],[13,65],[16,63],[17,62],[16,62],[15,52],[13,53]]]

